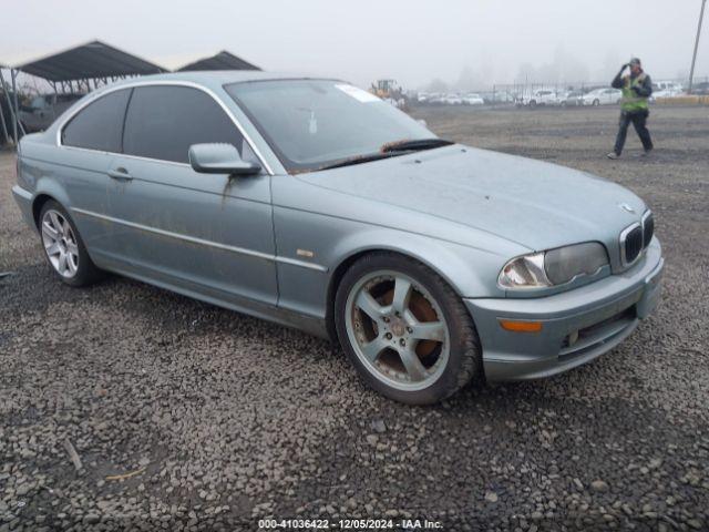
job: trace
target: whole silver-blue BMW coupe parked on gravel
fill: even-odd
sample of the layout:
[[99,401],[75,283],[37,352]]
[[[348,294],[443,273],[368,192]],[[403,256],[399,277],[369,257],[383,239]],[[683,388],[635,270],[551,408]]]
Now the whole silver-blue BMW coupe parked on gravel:
[[660,293],[631,192],[445,141],[338,80],[101,89],[22,139],[12,191],[64,283],[113,272],[330,338],[408,403],[587,362]]

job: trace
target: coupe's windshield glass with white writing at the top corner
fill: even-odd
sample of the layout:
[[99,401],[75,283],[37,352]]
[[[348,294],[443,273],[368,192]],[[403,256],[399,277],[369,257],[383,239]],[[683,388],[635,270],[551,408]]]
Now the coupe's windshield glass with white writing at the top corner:
[[436,139],[391,104],[339,81],[254,81],[225,89],[288,172],[370,156],[391,143]]

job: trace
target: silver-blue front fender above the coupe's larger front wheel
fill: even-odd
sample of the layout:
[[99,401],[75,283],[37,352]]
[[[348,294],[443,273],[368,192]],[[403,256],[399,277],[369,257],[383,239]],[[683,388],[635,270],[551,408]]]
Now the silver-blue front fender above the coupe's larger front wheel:
[[[461,296],[504,297],[500,268],[527,249],[490,234],[473,247],[433,236],[311,212],[274,208],[279,306],[326,319],[343,270],[363,253],[390,250],[441,275]],[[474,229],[470,229],[474,233]],[[474,236],[474,235],[473,235]],[[494,244],[494,245],[493,245]],[[307,258],[304,258],[307,257]]]

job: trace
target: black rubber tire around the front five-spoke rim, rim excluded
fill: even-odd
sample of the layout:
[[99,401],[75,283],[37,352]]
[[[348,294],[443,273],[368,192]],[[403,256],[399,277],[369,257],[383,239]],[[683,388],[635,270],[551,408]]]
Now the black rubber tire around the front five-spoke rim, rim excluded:
[[[347,319],[347,298],[362,276],[380,269],[400,272],[424,286],[436,300],[448,324],[450,339],[448,365],[441,376],[431,386],[422,390],[399,390],[382,382],[359,359],[350,344],[345,321]],[[342,349],[362,379],[381,395],[410,405],[431,405],[445,399],[458,389],[459,375],[463,370],[463,356],[467,349],[467,339],[463,335],[467,330],[466,326],[469,324],[462,323],[460,311],[454,308],[455,305],[462,305],[462,301],[451,300],[451,291],[446,290],[445,287],[444,280],[424,265],[394,254],[367,256],[356,263],[342,277],[335,301],[338,338]]]

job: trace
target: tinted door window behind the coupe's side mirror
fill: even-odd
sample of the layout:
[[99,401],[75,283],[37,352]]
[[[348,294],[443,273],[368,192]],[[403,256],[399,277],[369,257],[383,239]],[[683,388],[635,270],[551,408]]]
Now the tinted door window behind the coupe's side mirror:
[[125,117],[127,155],[187,163],[192,144],[225,142],[242,153],[243,137],[212,96],[188,86],[140,86]]

